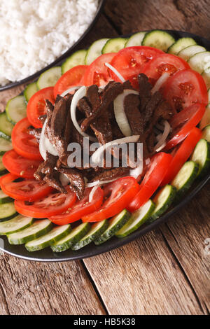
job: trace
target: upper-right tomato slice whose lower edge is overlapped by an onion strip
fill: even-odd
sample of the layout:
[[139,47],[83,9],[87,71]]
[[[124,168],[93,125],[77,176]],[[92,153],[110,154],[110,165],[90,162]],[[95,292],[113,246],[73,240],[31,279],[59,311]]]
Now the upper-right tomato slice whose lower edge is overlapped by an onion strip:
[[167,72],[172,76],[176,71],[183,69],[190,69],[189,64],[185,60],[175,55],[162,54],[149,61],[141,69],[141,73],[146,74],[150,83],[155,85],[155,82],[163,73]]

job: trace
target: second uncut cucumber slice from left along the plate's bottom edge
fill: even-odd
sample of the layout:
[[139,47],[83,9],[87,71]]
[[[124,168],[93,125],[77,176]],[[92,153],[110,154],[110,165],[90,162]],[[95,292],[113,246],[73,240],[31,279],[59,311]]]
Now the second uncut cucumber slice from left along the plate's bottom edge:
[[27,244],[25,244],[25,247],[27,248],[27,251],[41,250],[48,246],[52,246],[52,244],[55,244],[55,242],[59,241],[63,237],[66,237],[66,235],[68,235],[70,231],[71,231],[71,225],[69,224],[56,226],[55,228],[52,228],[52,230],[48,232],[46,235],[43,235],[42,237],[38,237],[38,239],[27,242]]

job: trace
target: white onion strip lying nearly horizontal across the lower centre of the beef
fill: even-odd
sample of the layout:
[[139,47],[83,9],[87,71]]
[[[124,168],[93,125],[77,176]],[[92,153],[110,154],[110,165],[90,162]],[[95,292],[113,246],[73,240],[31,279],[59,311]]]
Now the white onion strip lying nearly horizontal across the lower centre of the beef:
[[135,143],[136,141],[138,141],[139,139],[139,135],[132,135],[129,137],[123,137],[120,139],[115,139],[114,141],[109,141],[109,143],[106,143],[102,146],[100,146],[97,151],[94,151],[94,153],[91,156],[91,162],[94,164],[100,164],[100,158],[101,155],[104,153],[104,151],[106,150],[106,148],[109,148],[110,146],[113,145],[120,145],[120,144],[125,144],[125,143]]

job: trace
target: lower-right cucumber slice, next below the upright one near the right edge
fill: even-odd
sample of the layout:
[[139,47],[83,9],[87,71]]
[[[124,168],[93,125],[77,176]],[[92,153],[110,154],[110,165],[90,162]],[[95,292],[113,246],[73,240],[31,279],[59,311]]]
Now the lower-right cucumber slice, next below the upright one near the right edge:
[[199,165],[193,161],[187,161],[179,170],[179,173],[172,181],[172,186],[177,189],[179,197],[185,193],[197,177]]

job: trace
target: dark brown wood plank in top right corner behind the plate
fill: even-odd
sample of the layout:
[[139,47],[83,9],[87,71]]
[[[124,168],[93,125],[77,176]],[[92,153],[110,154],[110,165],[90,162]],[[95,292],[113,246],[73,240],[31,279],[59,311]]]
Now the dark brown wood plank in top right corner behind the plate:
[[209,0],[108,0],[105,13],[122,34],[177,29],[209,38]]

